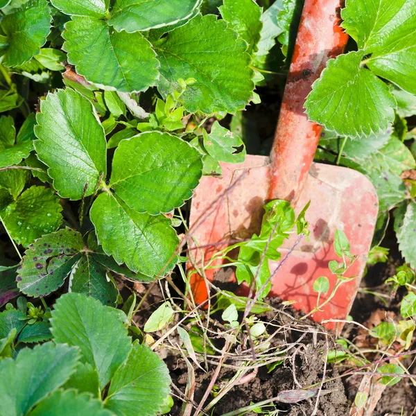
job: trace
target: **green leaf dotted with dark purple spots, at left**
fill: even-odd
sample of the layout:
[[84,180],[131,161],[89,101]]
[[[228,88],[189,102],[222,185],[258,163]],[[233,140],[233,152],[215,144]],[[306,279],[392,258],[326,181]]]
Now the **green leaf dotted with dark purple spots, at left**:
[[17,286],[35,297],[56,291],[64,284],[83,247],[81,234],[69,228],[43,236],[26,250],[17,269]]

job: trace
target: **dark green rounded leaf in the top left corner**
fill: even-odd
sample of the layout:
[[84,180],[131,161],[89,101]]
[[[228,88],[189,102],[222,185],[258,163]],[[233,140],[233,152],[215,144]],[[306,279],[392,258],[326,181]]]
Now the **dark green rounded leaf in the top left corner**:
[[51,28],[51,11],[46,0],[31,0],[1,20],[8,46],[2,64],[18,67],[37,55]]

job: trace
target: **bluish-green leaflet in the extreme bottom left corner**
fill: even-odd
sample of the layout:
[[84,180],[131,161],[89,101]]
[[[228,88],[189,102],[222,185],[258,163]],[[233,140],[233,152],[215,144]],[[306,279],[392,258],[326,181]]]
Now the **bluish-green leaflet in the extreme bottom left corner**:
[[35,404],[59,388],[72,374],[78,349],[45,343],[24,348],[17,359],[0,367],[0,414],[24,416]]

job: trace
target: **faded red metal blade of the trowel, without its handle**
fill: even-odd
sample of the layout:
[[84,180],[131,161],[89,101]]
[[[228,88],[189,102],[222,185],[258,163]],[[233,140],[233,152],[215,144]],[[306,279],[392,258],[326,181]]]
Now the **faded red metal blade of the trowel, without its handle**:
[[[207,263],[214,252],[228,245],[227,241],[247,239],[259,232],[263,205],[268,198],[268,157],[248,156],[243,164],[221,166],[223,177],[203,177],[193,197],[192,236],[202,248],[192,243],[191,255],[199,267],[202,254]],[[316,321],[345,320],[356,296],[374,234],[378,212],[376,191],[367,177],[357,171],[312,164],[296,211],[309,200],[311,205],[306,212],[311,230],[309,241],[303,239],[279,268],[272,279],[270,295],[295,301],[293,307],[304,313],[312,311],[317,302],[317,293],[313,291],[315,279],[327,276],[331,284],[329,293],[336,282],[328,262],[338,259],[333,250],[333,237],[336,229],[342,229],[349,239],[350,251],[358,256],[346,276],[356,279],[340,286],[322,312],[314,313],[312,318]],[[293,247],[296,238],[293,235],[286,241],[282,257]],[[270,270],[275,270],[277,263],[270,261],[269,266]],[[208,279],[214,279],[214,271],[205,271]],[[196,302],[203,302],[207,298],[207,287],[202,277],[191,275],[191,286]],[[238,293],[247,294],[247,286],[240,286]],[[320,299],[323,301],[325,295]],[[336,322],[327,323],[327,327],[335,328]]]

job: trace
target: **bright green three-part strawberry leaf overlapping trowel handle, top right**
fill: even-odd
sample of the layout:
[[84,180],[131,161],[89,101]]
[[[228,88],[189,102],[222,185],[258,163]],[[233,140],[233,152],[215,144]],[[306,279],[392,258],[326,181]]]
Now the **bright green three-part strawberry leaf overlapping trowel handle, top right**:
[[342,11],[343,27],[358,51],[328,62],[305,105],[312,121],[338,135],[378,134],[394,121],[395,96],[380,78],[416,94],[416,42],[409,35],[416,29],[415,2],[390,6],[388,0],[348,0]]

